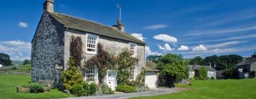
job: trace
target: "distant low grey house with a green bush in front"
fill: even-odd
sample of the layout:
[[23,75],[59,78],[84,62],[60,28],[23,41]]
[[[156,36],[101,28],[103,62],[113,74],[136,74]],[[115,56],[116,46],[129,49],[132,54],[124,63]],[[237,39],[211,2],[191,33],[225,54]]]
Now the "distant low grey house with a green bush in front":
[[207,69],[208,78],[216,78],[216,70],[211,66],[201,66],[201,65],[188,65],[189,78],[193,78],[199,73],[199,69],[205,67]]

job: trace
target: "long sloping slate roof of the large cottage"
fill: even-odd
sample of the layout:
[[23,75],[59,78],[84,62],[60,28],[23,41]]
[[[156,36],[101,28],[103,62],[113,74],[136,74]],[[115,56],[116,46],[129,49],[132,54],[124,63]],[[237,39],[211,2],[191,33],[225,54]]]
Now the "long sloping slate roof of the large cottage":
[[81,30],[85,32],[95,33],[98,35],[105,35],[108,37],[115,37],[122,40],[128,40],[132,42],[138,42],[145,45],[142,40],[133,37],[128,33],[121,32],[117,28],[113,28],[107,25],[102,25],[100,23],[95,23],[92,21],[87,21],[81,18],[75,18],[73,16],[68,16],[63,13],[50,13],[56,21],[63,24],[65,28],[73,28],[75,30]]

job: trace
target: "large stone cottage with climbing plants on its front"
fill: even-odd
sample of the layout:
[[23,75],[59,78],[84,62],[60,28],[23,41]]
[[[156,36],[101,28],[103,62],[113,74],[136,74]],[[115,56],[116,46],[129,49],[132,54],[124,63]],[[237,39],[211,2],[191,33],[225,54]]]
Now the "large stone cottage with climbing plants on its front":
[[[129,49],[132,57],[138,57],[130,76],[136,80],[137,75],[145,69],[145,42],[124,31],[124,24],[119,19],[113,26],[87,21],[82,18],[57,13],[53,10],[54,1],[46,0],[43,15],[38,23],[32,40],[31,76],[32,81],[51,81],[54,87],[60,87],[60,72],[68,69],[70,57],[70,40],[72,36],[82,39],[82,57],[85,61],[97,54],[97,43],[110,53],[119,54]],[[98,81],[97,67],[85,70],[85,81]],[[105,83],[114,90],[117,86],[117,71],[107,71]]]

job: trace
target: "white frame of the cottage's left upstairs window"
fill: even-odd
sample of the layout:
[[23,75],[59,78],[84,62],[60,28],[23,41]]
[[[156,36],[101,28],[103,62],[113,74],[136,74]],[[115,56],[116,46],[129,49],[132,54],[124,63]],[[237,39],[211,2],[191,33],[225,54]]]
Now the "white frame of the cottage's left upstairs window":
[[[87,49],[88,49],[88,47],[87,47],[87,45],[88,45],[88,42],[87,42],[88,36],[92,36],[92,37],[95,37],[95,38],[96,38],[96,40],[95,40],[95,52],[87,51]],[[98,35],[92,35],[92,34],[87,33],[85,37],[86,37],[85,52],[86,52],[87,54],[97,54],[97,44],[98,44],[98,42],[99,42],[99,36],[98,36]]]

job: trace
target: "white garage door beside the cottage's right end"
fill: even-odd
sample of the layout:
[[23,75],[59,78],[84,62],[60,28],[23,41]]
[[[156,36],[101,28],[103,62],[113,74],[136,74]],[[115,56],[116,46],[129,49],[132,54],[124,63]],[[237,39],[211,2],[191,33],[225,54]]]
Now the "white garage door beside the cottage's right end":
[[146,71],[145,83],[149,88],[156,88],[156,71]]

